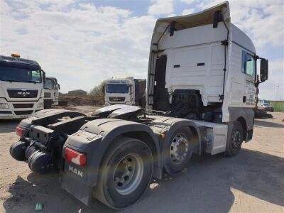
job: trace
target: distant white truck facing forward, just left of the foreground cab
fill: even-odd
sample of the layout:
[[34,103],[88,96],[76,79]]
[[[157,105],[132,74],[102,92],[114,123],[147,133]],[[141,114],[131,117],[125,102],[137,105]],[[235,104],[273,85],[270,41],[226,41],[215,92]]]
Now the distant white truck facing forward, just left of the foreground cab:
[[146,79],[107,80],[103,87],[105,106],[114,104],[146,107]]

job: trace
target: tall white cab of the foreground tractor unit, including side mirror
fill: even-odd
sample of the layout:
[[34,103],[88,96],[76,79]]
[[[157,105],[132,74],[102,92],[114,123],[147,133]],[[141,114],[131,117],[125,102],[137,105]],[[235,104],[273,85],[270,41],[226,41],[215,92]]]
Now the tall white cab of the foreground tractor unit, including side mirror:
[[268,60],[231,23],[229,3],[200,13],[160,18],[148,66],[148,109],[171,116],[229,124],[239,121],[251,139],[256,103],[256,60],[261,82]]

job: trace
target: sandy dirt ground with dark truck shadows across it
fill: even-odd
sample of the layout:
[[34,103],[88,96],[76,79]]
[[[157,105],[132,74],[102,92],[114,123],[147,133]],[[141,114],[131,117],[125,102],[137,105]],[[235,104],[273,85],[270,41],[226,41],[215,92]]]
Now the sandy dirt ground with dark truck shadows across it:
[[[92,111],[92,107],[79,107]],[[284,212],[284,113],[255,121],[253,140],[239,155],[193,156],[175,177],[153,181],[140,202],[121,212]],[[113,212],[92,200],[85,206],[60,188],[58,175],[36,175],[13,160],[18,121],[0,121],[0,212]]]

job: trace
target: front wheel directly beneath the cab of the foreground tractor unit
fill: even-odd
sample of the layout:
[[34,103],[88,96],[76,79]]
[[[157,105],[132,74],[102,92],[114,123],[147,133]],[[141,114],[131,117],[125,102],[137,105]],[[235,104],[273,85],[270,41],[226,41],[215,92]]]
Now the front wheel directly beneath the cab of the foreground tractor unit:
[[243,127],[239,121],[234,124],[229,137],[229,143],[226,145],[226,156],[232,157],[239,153],[244,138]]

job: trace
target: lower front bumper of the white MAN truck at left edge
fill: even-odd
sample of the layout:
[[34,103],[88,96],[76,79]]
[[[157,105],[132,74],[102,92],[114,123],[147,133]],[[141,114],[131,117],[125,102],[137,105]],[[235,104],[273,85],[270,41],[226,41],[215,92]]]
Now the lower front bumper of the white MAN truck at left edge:
[[38,107],[41,102],[43,103],[43,99],[39,102],[6,102],[1,99],[1,103],[8,104],[9,108],[0,109],[0,119],[26,119],[43,109],[43,104]]

